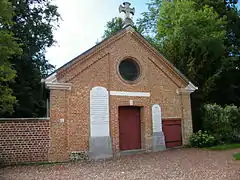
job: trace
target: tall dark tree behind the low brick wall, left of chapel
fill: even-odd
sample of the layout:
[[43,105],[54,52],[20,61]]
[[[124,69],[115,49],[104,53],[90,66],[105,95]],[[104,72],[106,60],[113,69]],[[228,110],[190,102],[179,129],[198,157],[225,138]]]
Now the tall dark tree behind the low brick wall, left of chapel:
[[47,47],[54,44],[53,30],[60,18],[51,0],[12,0],[14,25],[11,31],[22,44],[21,56],[11,56],[17,77],[10,84],[18,103],[12,117],[44,116],[46,90],[41,79],[53,70],[45,58]]

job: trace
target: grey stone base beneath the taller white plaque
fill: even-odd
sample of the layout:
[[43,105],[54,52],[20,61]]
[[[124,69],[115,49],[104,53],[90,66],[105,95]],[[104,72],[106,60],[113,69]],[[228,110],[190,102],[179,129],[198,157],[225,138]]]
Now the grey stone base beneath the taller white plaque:
[[113,152],[111,137],[90,137],[88,157],[90,160],[112,158]]

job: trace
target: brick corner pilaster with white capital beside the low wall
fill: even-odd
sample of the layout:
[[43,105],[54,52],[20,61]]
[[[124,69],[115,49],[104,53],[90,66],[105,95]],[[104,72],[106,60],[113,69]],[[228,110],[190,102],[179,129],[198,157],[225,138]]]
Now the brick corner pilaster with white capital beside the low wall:
[[69,160],[68,153],[68,101],[67,92],[71,91],[71,83],[58,81],[56,73],[45,80],[50,89],[50,148],[48,159],[51,162]]

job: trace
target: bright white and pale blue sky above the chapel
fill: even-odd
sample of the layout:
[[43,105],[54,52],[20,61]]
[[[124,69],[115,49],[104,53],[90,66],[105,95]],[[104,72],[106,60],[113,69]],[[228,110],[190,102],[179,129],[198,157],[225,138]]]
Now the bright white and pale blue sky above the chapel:
[[[119,14],[124,0],[54,0],[62,21],[54,33],[57,44],[47,50],[46,57],[56,68],[94,46],[101,39],[107,21]],[[135,7],[134,21],[147,11],[149,0],[129,0]]]

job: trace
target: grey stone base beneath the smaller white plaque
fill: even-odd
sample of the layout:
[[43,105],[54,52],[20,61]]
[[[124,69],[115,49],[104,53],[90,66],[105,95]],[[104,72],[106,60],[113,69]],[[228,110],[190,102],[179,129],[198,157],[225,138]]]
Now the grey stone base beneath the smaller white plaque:
[[164,151],[166,150],[165,136],[163,132],[153,132],[152,137],[152,151]]

